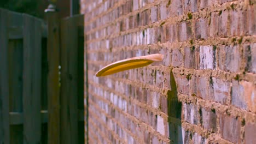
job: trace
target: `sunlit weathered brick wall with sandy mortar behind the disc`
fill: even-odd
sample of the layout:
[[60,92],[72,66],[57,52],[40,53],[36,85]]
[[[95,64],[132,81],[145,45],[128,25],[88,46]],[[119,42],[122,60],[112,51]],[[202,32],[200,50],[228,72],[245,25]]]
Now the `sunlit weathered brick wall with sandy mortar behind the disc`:
[[[256,1],[81,0],[81,12],[89,143],[256,142]],[[164,61],[95,76],[153,53]]]

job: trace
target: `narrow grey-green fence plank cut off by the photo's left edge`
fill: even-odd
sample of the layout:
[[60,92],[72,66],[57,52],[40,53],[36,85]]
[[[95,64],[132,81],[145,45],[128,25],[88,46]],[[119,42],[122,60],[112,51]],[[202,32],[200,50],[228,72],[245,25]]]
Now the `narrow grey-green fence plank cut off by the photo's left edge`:
[[8,11],[0,9],[0,143],[10,143],[7,22]]

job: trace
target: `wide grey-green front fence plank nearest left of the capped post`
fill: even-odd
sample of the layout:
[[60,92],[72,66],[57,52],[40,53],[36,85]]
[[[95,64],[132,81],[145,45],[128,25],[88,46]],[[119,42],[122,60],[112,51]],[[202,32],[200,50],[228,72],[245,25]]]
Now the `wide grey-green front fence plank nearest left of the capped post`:
[[40,143],[41,25],[24,15],[24,143]]

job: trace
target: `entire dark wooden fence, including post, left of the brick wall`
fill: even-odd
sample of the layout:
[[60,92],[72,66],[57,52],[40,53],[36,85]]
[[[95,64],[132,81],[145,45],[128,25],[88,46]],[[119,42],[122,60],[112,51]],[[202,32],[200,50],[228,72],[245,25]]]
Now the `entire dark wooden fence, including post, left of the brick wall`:
[[48,15],[0,9],[0,143],[84,143],[83,15]]

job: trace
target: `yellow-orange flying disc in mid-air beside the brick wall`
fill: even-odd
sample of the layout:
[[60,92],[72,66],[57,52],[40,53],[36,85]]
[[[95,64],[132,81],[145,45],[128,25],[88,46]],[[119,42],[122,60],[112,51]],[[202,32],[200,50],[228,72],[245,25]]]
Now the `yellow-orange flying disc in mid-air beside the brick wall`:
[[124,70],[144,67],[149,64],[152,64],[153,62],[161,62],[163,58],[164,58],[163,55],[156,53],[153,55],[123,59],[121,61],[117,61],[107,65],[106,67],[103,67],[102,69],[97,71],[96,76],[97,77],[106,76],[106,75],[111,75]]

